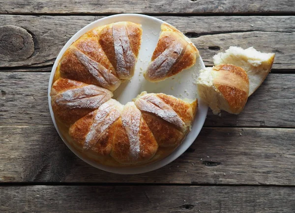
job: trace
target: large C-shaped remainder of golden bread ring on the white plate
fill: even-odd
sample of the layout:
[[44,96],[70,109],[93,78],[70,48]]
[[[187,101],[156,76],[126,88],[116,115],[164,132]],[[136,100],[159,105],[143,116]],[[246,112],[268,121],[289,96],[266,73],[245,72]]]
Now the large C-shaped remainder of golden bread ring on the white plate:
[[85,158],[104,165],[146,165],[171,154],[189,132],[198,102],[140,94],[112,99],[134,75],[142,29],[118,22],[90,30],[65,51],[51,88],[61,134]]

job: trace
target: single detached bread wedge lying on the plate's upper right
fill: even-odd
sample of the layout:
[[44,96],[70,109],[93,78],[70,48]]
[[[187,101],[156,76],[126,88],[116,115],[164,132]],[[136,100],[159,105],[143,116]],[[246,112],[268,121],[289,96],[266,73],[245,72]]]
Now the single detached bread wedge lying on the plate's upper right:
[[178,29],[162,24],[157,46],[144,76],[151,82],[158,82],[192,67],[199,57],[195,45]]

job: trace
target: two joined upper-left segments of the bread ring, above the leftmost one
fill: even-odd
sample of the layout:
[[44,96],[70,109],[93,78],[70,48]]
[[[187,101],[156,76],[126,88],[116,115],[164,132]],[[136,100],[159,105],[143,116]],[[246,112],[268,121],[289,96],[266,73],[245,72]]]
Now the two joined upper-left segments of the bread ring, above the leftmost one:
[[131,22],[98,27],[81,36],[63,54],[62,78],[79,80],[114,91],[134,74],[142,29]]

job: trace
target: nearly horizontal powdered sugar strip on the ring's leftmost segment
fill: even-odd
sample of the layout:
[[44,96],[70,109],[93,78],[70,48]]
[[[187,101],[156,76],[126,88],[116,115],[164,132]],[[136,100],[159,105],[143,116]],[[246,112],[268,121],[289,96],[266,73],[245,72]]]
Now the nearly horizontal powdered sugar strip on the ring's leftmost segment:
[[95,85],[66,90],[53,98],[59,106],[73,108],[98,108],[113,96],[112,92]]

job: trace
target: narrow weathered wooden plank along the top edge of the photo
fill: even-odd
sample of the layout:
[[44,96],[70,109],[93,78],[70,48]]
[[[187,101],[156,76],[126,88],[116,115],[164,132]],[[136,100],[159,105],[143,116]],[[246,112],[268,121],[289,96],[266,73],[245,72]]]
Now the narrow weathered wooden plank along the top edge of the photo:
[[169,14],[223,14],[223,13],[292,13],[294,0],[2,0],[1,14],[99,14],[99,13],[169,13]]

